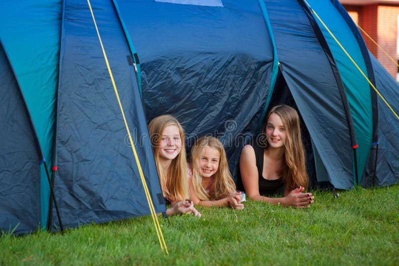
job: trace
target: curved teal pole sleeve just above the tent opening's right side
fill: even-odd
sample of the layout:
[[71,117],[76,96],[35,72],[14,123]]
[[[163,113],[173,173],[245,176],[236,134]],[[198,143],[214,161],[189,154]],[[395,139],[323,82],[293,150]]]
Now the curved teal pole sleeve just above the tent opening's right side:
[[276,84],[277,74],[278,74],[278,66],[279,66],[278,57],[277,57],[276,42],[274,41],[273,31],[272,31],[272,28],[271,28],[269,15],[267,14],[267,9],[266,9],[266,5],[265,5],[264,0],[259,0],[259,5],[260,5],[260,8],[262,9],[263,18],[265,20],[266,27],[267,27],[267,30],[268,30],[268,33],[269,33],[269,38],[270,38],[270,40],[272,42],[274,59],[273,59],[273,68],[272,68],[272,71],[271,71],[269,93],[267,95],[265,108],[264,108],[264,110],[262,112],[262,116],[260,117],[259,125],[258,125],[258,128],[256,129],[256,133],[260,132],[261,127],[262,127],[263,119],[266,116],[266,111],[267,111],[267,108],[269,107],[270,99],[271,99],[271,96],[273,94],[274,86]]

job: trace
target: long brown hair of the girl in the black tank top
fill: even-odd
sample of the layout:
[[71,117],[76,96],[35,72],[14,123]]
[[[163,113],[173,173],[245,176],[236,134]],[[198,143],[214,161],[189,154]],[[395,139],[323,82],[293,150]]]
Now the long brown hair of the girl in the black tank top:
[[[295,109],[286,105],[278,105],[273,107],[264,125],[267,124],[271,114],[276,114],[280,117],[287,136],[285,138],[285,163],[283,164],[282,171],[279,173],[285,186],[290,190],[299,186],[305,188],[309,185],[309,178],[306,172],[305,151],[303,148],[301,128],[299,116]],[[265,129],[263,129],[265,132]],[[266,148],[268,148],[266,146]]]

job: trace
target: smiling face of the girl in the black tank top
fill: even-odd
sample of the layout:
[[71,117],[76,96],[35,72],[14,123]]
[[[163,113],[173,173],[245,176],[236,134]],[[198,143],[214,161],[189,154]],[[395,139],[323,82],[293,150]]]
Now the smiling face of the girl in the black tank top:
[[272,148],[285,147],[284,142],[287,136],[286,129],[281,118],[272,113],[267,120],[266,125],[267,143]]

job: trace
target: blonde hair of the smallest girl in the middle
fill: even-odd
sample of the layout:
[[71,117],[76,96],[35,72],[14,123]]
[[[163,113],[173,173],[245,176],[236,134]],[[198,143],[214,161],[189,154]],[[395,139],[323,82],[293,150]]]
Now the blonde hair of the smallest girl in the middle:
[[[207,193],[202,186],[202,176],[199,172],[199,161],[205,146],[216,149],[220,154],[219,168],[216,173],[213,174],[214,180],[210,185],[209,193]],[[200,200],[223,199],[235,191],[235,184],[228,169],[226,152],[224,151],[222,143],[217,138],[212,136],[200,137],[191,150],[190,162],[193,169],[192,181],[194,191]]]

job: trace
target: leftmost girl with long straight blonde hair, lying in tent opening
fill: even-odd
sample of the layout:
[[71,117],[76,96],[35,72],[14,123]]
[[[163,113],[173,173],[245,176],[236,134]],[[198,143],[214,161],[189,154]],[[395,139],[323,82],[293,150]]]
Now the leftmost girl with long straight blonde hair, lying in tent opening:
[[167,215],[194,213],[200,216],[194,203],[187,200],[189,185],[182,125],[173,116],[164,115],[154,118],[148,129],[162,192],[173,206],[167,209]]

